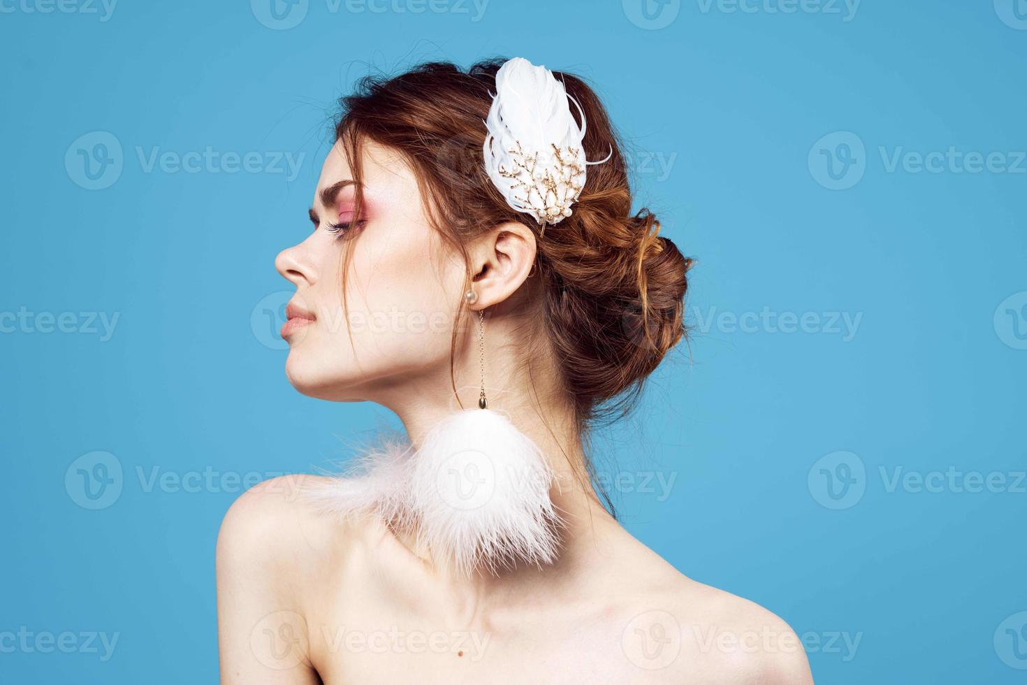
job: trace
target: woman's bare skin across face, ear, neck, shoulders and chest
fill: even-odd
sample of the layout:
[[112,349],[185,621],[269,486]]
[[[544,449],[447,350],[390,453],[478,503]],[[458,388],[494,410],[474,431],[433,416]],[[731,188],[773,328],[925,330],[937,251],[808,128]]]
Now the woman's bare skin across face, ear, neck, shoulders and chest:
[[[469,268],[479,293],[471,308],[490,312],[492,406],[516,417],[558,473],[560,559],[460,579],[381,522],[316,511],[300,493],[313,477],[269,481],[232,505],[218,539],[222,683],[811,683],[782,619],[682,575],[575,479],[585,455],[559,399],[559,376],[551,367],[538,373],[555,361],[536,358],[529,378],[518,344],[530,316],[531,229],[497,227],[469,246],[464,264],[430,229],[416,179],[397,156],[368,146],[364,168],[373,199],[366,234],[351,243],[347,306],[391,312],[393,324],[350,326],[352,347],[339,325],[343,246],[326,226],[349,218],[347,199],[321,191],[352,177],[336,147],[318,182],[315,230],[276,262],[306,317],[289,335],[291,381],[312,396],[387,407],[416,445],[457,409],[447,392],[452,329],[394,321],[420,320],[416,312],[452,321]],[[460,332],[464,407],[478,394],[476,333]]]

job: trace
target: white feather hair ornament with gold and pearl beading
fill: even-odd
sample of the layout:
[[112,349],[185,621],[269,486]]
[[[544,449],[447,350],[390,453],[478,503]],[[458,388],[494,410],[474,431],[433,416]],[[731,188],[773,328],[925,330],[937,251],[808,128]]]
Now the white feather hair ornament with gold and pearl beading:
[[[570,103],[581,116],[578,126]],[[496,73],[496,94],[485,121],[485,168],[518,212],[545,230],[571,216],[584,188],[585,168],[606,159],[585,159],[586,122],[581,105],[545,67],[514,58]]]

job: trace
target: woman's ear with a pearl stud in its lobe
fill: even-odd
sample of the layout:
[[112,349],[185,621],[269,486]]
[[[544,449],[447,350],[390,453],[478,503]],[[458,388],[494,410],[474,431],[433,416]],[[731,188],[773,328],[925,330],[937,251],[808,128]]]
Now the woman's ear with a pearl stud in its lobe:
[[528,278],[538,245],[535,233],[520,222],[496,226],[469,245],[471,287],[478,301],[471,309],[503,302]]

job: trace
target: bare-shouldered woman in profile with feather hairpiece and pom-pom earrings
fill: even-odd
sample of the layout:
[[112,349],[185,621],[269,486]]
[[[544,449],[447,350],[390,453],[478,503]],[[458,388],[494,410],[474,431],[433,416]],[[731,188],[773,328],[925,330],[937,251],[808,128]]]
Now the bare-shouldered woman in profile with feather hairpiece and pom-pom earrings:
[[588,426],[683,336],[690,265],[631,214],[592,89],[429,64],[343,105],[313,232],[276,261],[287,373],[409,441],[233,504],[222,682],[810,682],[787,624],[683,576],[589,479]]

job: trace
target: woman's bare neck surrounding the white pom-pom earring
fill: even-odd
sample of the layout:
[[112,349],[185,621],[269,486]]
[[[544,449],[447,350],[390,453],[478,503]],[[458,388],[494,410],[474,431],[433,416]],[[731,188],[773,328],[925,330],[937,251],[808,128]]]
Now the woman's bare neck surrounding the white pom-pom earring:
[[[545,353],[529,354],[534,366],[525,366],[525,348],[519,342],[515,317],[494,311],[487,315],[485,381],[488,408],[506,416],[511,423],[538,446],[555,474],[549,496],[563,522],[560,554],[555,564],[541,569],[522,566],[500,569],[496,574],[483,570],[471,578],[447,570],[444,564],[428,564],[426,572],[449,586],[447,593],[455,605],[480,608],[483,598],[490,601],[525,593],[553,592],[561,582],[577,575],[594,559],[602,531],[616,526],[599,501],[585,468],[587,455],[578,434],[573,407],[559,385],[556,360]],[[474,315],[477,321],[477,314]],[[449,358],[421,377],[397,380],[390,387],[379,386],[374,402],[393,411],[404,424],[415,448],[432,426],[454,412],[477,411],[481,384],[477,326],[467,331],[458,345],[462,353],[453,361],[457,392],[452,391]],[[470,382],[468,382],[470,381]],[[414,554],[428,559],[417,548],[414,539],[404,540]],[[428,559],[430,561],[430,559]],[[510,595],[512,593],[512,596]],[[476,609],[477,610],[477,609]]]

